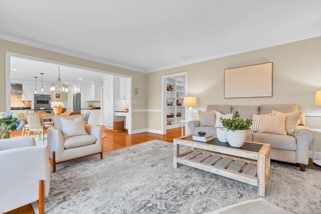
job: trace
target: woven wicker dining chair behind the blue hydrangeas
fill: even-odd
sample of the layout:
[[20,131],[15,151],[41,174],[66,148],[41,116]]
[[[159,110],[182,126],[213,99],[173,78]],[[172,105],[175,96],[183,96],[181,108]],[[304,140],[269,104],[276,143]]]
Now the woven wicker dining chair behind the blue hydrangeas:
[[26,130],[26,134],[28,132],[28,137],[30,136],[31,132],[34,132],[32,135],[38,135],[39,138],[43,139],[43,144],[45,144],[45,133],[47,133],[47,129],[49,127],[53,127],[52,124],[45,124],[41,114],[39,113],[29,113],[27,114],[27,122],[28,122],[28,130]]

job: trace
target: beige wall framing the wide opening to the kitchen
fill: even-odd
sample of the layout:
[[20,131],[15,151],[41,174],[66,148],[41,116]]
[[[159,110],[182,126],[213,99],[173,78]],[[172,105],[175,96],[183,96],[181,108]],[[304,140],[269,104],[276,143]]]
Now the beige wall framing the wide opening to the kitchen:
[[[144,73],[135,72],[128,69],[123,69],[103,63],[97,63],[90,60],[72,57],[65,54],[59,54],[56,52],[47,51],[44,49],[39,49],[0,39],[0,111],[6,110],[6,51],[132,76],[132,87],[138,88],[139,90],[138,95],[133,95],[133,100],[135,100],[135,103],[133,104],[133,109],[146,108],[146,74]],[[133,114],[135,115],[136,113]],[[140,129],[141,126],[145,127],[145,121],[138,121],[134,122],[133,124],[133,130]]]

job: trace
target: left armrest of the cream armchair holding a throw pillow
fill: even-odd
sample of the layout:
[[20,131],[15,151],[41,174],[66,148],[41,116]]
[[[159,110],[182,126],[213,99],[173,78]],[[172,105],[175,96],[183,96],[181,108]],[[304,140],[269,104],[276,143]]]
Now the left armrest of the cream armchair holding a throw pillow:
[[64,138],[62,133],[55,129],[54,127],[50,127],[47,129],[47,145],[49,157],[52,159],[52,152],[55,151],[56,158],[65,150],[64,148]]

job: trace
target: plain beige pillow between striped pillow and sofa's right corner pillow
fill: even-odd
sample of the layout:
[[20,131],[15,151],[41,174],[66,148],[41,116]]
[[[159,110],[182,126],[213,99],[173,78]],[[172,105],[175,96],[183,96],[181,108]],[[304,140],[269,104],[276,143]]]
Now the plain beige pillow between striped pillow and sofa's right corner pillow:
[[259,132],[286,135],[285,115],[261,115],[261,127]]

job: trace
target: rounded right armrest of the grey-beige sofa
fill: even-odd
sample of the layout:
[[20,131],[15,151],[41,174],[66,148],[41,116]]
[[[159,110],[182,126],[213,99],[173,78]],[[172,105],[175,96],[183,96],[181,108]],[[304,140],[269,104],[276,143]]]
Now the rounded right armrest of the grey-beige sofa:
[[314,140],[313,131],[307,126],[296,126],[294,131],[296,139],[296,162],[308,164],[309,145]]

